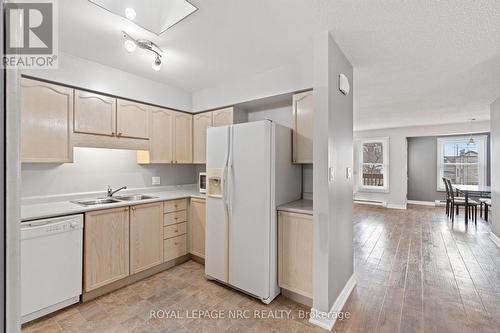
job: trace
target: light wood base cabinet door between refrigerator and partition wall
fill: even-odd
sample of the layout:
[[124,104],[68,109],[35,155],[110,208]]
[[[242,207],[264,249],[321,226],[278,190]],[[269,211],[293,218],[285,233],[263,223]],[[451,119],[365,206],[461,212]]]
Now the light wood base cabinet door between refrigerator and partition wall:
[[312,262],[312,216],[278,212],[279,286],[312,298]]

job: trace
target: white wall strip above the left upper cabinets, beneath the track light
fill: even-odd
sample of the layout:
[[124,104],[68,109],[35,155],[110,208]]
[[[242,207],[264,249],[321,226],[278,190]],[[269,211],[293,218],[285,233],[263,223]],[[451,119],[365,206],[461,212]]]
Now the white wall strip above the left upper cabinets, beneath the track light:
[[96,62],[60,53],[58,69],[25,70],[23,74],[89,90],[191,111],[191,94]]

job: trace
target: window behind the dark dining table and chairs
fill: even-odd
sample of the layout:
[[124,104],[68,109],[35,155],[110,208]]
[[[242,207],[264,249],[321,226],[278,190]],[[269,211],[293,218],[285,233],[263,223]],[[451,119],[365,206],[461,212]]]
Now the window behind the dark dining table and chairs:
[[443,177],[453,184],[486,185],[486,135],[443,137],[437,141],[437,189],[444,191]]

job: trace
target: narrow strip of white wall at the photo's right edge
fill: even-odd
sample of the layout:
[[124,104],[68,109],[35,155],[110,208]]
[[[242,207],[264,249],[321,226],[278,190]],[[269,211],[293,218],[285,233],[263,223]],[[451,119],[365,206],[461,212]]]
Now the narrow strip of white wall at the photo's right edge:
[[[500,238],[500,98],[491,104],[491,231]],[[500,244],[497,244],[500,246]]]

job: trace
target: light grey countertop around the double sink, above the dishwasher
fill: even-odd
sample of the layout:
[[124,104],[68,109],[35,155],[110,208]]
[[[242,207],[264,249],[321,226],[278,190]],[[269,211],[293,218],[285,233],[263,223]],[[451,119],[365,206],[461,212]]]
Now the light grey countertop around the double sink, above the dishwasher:
[[[128,192],[126,194],[132,194],[133,192]],[[141,205],[147,203],[153,203],[158,201],[166,201],[166,200],[174,200],[174,199],[182,199],[182,198],[205,198],[204,194],[198,192],[198,190],[192,186],[186,188],[174,188],[168,189],[164,191],[141,191],[137,193],[144,193],[150,196],[154,196],[153,199],[147,200],[138,200],[138,201],[122,201],[112,204],[101,204],[101,205],[93,205],[93,206],[82,206],[79,204],[75,204],[70,202],[70,200],[81,200],[81,199],[95,199],[100,196],[87,196],[82,197],[82,195],[78,195],[78,198],[68,197],[67,199],[61,201],[51,201],[51,202],[40,202],[40,203],[29,203],[21,205],[21,221],[30,221],[37,219],[44,219],[49,217],[56,216],[64,216],[64,215],[72,215],[72,214],[80,214],[85,212],[90,212],[94,210],[102,210],[102,209],[111,209],[111,208],[119,208],[133,205]],[[122,193],[120,193],[122,194]]]

